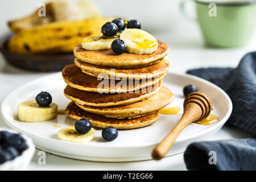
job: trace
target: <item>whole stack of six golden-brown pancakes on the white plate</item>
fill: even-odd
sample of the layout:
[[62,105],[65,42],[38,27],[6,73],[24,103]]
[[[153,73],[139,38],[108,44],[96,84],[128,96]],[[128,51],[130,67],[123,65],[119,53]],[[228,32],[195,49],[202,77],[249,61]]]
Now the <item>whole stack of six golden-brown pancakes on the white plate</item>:
[[89,51],[77,46],[75,64],[62,72],[68,84],[64,94],[72,101],[65,113],[76,120],[89,119],[92,126],[101,128],[134,129],[154,123],[159,110],[174,99],[162,86],[169,48],[158,44],[155,52],[144,55],[116,55],[112,49]]

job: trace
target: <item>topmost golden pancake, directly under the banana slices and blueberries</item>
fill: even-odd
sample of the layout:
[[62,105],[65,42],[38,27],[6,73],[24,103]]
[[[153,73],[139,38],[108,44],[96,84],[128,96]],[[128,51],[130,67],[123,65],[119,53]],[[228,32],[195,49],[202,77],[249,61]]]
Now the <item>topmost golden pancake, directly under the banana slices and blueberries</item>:
[[142,55],[129,52],[117,55],[112,49],[91,51],[83,49],[81,44],[74,49],[74,55],[81,61],[115,68],[145,67],[146,65],[157,63],[156,61],[162,59],[168,52],[169,48],[167,44],[160,40],[158,40],[158,49],[155,52]]

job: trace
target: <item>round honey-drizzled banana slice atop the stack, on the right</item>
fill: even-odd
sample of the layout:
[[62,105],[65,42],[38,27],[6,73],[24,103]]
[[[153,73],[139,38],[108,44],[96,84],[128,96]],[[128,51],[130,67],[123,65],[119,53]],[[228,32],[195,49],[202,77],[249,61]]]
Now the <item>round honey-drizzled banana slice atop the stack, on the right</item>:
[[122,31],[120,39],[126,44],[126,51],[138,55],[156,51],[158,42],[151,34],[137,28],[126,28]]

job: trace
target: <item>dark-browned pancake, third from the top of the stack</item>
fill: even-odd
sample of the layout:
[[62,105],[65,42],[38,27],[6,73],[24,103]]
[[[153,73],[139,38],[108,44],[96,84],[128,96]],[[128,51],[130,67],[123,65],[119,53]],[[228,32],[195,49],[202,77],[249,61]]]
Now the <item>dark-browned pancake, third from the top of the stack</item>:
[[99,92],[99,93],[123,93],[123,92],[130,92],[134,90],[139,90],[142,88],[145,88],[146,86],[155,85],[159,82],[159,80],[162,80],[164,75],[161,75],[159,77],[155,77],[152,79],[147,80],[137,80],[133,81],[132,84],[129,84],[129,80],[126,80],[124,83],[127,86],[122,86],[121,84],[118,84],[121,82],[120,80],[115,80],[114,84],[115,86],[110,86],[110,80],[107,80],[108,84],[102,85],[101,88],[98,88],[98,85],[102,82],[102,80],[97,80],[96,77],[86,75],[81,72],[80,68],[78,68],[75,64],[67,65],[63,71],[62,76],[64,81],[71,86],[72,88],[76,88],[79,90],[84,90],[87,92]]

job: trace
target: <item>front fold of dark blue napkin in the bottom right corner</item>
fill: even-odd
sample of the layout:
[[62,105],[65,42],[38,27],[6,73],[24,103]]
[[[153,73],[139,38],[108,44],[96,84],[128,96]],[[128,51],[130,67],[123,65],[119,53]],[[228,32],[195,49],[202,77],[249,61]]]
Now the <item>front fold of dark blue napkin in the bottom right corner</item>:
[[188,170],[256,170],[256,138],[189,144],[184,153]]

